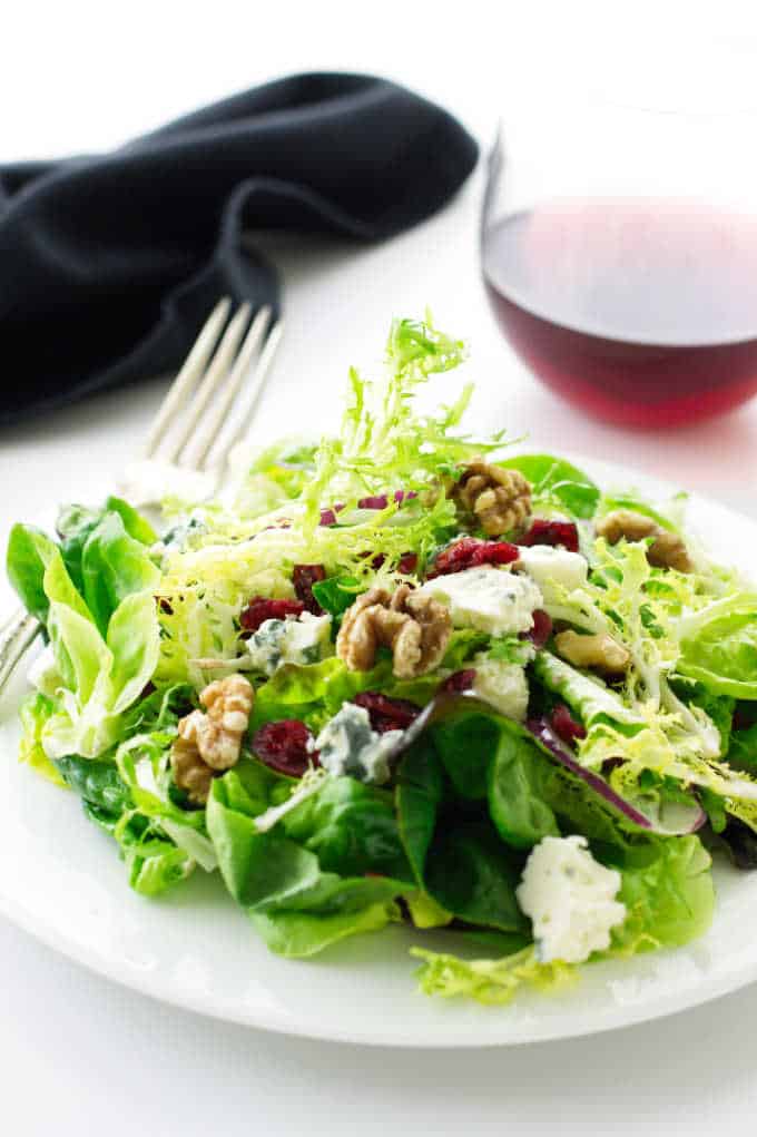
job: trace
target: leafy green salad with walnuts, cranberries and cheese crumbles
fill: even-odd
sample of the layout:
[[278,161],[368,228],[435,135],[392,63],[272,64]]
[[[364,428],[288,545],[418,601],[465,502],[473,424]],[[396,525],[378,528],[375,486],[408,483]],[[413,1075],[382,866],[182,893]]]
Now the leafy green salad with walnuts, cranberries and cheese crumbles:
[[290,957],[402,921],[424,991],[498,1004],[700,936],[712,856],[757,865],[757,594],[683,497],[469,437],[469,385],[421,413],[465,355],[396,321],[338,434],[7,564],[47,639],[20,758],[132,888],[217,873]]

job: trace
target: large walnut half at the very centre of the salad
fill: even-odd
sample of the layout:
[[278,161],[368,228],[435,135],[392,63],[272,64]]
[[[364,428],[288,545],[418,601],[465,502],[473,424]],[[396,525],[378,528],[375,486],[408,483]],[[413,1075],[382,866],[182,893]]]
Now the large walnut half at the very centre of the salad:
[[350,671],[369,671],[380,646],[391,648],[398,679],[436,667],[447,650],[452,622],[443,604],[400,584],[394,594],[372,588],[347,609],[336,654]]

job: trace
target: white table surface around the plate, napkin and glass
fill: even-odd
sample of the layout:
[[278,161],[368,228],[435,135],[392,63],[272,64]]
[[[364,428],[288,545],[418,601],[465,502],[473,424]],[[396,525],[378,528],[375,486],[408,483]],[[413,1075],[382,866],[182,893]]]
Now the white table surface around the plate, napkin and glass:
[[[107,147],[276,73],[315,67],[391,74],[486,132],[497,109],[492,91],[517,91],[524,68],[557,82],[549,78],[555,52],[585,51],[590,36],[617,50],[617,32],[596,20],[582,26],[575,6],[564,6],[568,23],[561,6],[536,5],[518,20],[521,6],[501,7],[499,30],[476,3],[466,5],[464,26],[450,30],[441,5],[410,11],[386,3],[380,13],[339,3],[305,13],[280,3],[264,18],[251,5],[224,2],[196,15],[186,5],[132,3],[116,14],[67,3],[42,31],[27,6],[3,32],[0,161]],[[637,22],[647,18],[638,5],[634,13]],[[655,18],[659,32],[659,13]],[[712,13],[702,35],[709,23]],[[754,47],[754,28],[722,26],[740,50]],[[552,28],[547,42],[544,27]],[[281,433],[282,408],[285,429],[333,422],[347,366],[378,356],[392,315],[430,305],[440,326],[472,341],[469,371],[481,387],[474,423],[494,416],[514,437],[529,431],[534,446],[642,466],[757,517],[757,401],[675,433],[626,433],[584,420],[523,372],[494,330],[477,276],[480,189],[476,175],[443,214],[383,247],[277,242],[288,333],[258,421],[260,440]],[[130,457],[161,391],[152,381],[0,431],[0,546],[19,514],[33,517],[51,497],[97,496]],[[392,1053],[288,1039],[164,1007],[3,921],[0,977],[0,1131],[14,1137],[754,1130],[757,987],[594,1039]]]

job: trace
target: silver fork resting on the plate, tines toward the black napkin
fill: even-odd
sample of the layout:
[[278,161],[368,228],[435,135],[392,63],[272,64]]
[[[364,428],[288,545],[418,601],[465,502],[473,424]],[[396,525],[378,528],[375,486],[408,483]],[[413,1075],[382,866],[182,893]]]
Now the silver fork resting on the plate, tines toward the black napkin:
[[[269,307],[252,316],[251,305],[243,304],[230,319],[231,309],[224,297],[210,313],[152,421],[140,458],[126,468],[120,488],[132,504],[149,500],[139,483],[169,483],[188,472],[203,475],[208,496],[221,487],[228,456],[250,428],[282,334],[281,321],[272,325]],[[0,694],[40,630],[23,609],[3,624]]]

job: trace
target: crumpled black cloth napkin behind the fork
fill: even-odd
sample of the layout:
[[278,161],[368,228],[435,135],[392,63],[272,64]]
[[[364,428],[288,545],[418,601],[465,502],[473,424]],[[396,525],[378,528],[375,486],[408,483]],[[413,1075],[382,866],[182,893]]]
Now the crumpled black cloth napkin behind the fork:
[[439,209],[477,148],[365,75],[294,75],[111,153],[0,167],[0,423],[175,368],[218,297],[278,308],[242,232],[359,241]]

